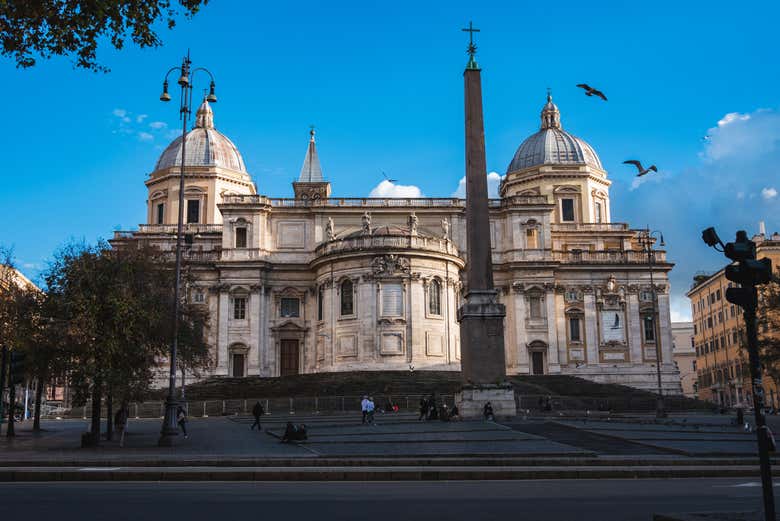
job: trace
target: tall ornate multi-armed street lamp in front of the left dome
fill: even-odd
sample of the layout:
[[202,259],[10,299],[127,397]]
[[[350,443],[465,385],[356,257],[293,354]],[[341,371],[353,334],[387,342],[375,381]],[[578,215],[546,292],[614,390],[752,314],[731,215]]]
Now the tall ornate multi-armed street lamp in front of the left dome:
[[181,63],[181,67],[171,67],[167,73],[165,73],[165,79],[163,80],[163,92],[160,94],[160,101],[171,101],[171,95],[168,94],[168,76],[173,71],[179,72],[179,79],[177,83],[181,87],[181,98],[179,100],[179,119],[181,120],[181,172],[179,175],[179,216],[176,222],[176,279],[174,282],[174,304],[173,304],[173,341],[171,343],[171,356],[170,356],[170,377],[168,381],[168,397],[165,399],[165,416],[163,418],[162,429],[160,431],[160,439],[158,445],[170,446],[173,444],[173,439],[178,436],[179,429],[176,424],[176,412],[179,403],[176,401],[176,351],[179,346],[179,306],[181,304],[181,243],[184,236],[184,161],[185,161],[185,147],[187,144],[187,123],[189,122],[191,108],[192,108],[192,90],[193,90],[193,78],[196,72],[202,71],[209,75],[211,83],[209,85],[209,94],[206,96],[206,101],[216,103],[217,96],[214,94],[214,75],[209,72],[208,69],[198,67],[192,69],[192,62],[190,61],[190,53],[187,52],[187,56],[184,57]]

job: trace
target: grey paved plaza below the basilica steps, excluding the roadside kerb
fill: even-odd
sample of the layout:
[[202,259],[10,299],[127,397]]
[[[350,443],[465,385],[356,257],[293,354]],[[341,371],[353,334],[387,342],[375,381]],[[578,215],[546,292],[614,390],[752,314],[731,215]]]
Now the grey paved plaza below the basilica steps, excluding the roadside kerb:
[[[775,418],[771,419],[776,423]],[[125,446],[116,439],[96,449],[81,449],[86,420],[44,420],[17,424],[17,437],[0,437],[0,464],[9,461],[148,460],[173,458],[317,459],[348,457],[570,457],[654,456],[667,458],[753,457],[755,434],[733,425],[728,416],[690,415],[658,423],[650,417],[517,417],[511,421],[418,421],[414,414],[378,414],[373,425],[359,414],[269,415],[263,431],[251,430],[246,415],[196,418],[189,437],[174,448],[157,447],[159,419],[131,419]],[[307,426],[308,440],[281,443],[286,422]],[[105,422],[104,422],[105,423]]]

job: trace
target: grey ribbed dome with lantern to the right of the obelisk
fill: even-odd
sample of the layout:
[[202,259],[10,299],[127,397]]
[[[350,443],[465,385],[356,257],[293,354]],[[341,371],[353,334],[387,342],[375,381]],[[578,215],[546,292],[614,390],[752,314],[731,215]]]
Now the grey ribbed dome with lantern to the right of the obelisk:
[[561,113],[547,95],[542,109],[542,128],[520,145],[508,172],[539,165],[589,165],[602,169],[601,160],[589,144],[561,128]]

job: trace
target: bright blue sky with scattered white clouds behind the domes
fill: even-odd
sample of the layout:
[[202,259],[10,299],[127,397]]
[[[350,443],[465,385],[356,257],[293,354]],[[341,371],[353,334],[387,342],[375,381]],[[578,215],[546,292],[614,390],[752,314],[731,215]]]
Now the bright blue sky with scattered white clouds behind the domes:
[[[314,124],[334,193],[368,195],[385,171],[448,196],[463,175],[460,28],[473,19],[488,169],[504,173],[552,88],[564,128],[609,172],[613,221],[664,232],[677,263],[674,317],[683,318],[693,273],[723,264],[701,243],[702,228],[724,238],[756,231],[759,220],[780,229],[780,6],[631,4],[216,0],[161,28],[159,49],[103,46],[109,74],[68,59],[30,70],[0,59],[0,244],[35,277],[70,238],[94,241],[145,219],[143,181],[178,128],[160,84],[187,48],[216,75],[215,124],[261,193],[292,195]],[[609,102],[583,96],[580,82]],[[637,186],[621,164],[628,158],[660,174]]]

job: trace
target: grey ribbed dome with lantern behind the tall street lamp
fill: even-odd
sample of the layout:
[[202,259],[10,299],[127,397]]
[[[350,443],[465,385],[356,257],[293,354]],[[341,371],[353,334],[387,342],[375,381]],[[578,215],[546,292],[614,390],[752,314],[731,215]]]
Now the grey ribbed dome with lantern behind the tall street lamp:
[[[217,166],[246,173],[238,148],[214,128],[214,113],[206,100],[195,113],[195,127],[187,133],[186,166]],[[181,136],[173,140],[157,160],[155,170],[181,165]]]

